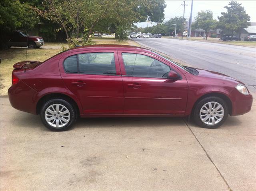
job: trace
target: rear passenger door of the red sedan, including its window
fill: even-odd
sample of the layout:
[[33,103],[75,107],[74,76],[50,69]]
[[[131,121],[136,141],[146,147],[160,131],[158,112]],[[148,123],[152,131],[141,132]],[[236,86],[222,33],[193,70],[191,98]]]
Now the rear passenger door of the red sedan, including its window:
[[[123,114],[124,94],[116,51],[70,53],[59,61],[61,77],[83,114]],[[82,114],[82,113],[81,113]]]

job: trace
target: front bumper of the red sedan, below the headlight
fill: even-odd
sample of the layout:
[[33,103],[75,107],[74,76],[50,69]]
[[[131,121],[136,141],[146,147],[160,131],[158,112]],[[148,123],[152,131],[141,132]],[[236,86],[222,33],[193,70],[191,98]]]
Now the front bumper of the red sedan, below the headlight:
[[252,95],[243,95],[237,90],[233,90],[232,94],[236,96],[232,99],[232,113],[231,115],[243,115],[248,113],[252,108]]

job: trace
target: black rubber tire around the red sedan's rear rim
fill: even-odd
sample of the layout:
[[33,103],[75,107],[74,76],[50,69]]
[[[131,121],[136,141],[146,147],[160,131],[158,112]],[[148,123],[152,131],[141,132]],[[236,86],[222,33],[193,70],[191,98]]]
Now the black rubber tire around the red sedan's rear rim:
[[[68,123],[63,126],[63,127],[53,127],[51,126],[50,124],[48,124],[48,122],[46,121],[45,119],[45,116],[44,116],[44,113],[46,111],[46,109],[50,106],[50,105],[53,105],[53,104],[61,104],[61,105],[64,105],[68,111],[70,112],[70,120],[68,121]],[[74,109],[75,107],[70,104],[68,101],[64,100],[64,99],[51,99],[49,101],[47,101],[46,103],[44,103],[44,105],[42,106],[42,109],[40,111],[40,117],[41,117],[41,120],[42,122],[44,123],[44,125],[52,130],[52,131],[66,131],[68,129],[70,129],[70,127],[76,122],[76,119],[77,119],[77,111],[76,109]],[[60,116],[61,117],[61,116]]]

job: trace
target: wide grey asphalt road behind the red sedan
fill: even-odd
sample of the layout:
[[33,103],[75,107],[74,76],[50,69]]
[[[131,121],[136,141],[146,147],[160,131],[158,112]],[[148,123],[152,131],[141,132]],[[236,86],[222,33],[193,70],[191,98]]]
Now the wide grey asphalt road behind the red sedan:
[[188,65],[226,74],[256,92],[256,49],[229,44],[168,38],[133,39]]

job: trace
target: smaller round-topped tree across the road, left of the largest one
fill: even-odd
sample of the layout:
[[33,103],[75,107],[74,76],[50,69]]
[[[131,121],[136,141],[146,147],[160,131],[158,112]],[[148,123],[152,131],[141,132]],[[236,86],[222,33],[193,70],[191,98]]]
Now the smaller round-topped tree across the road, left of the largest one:
[[206,40],[207,40],[207,32],[210,29],[213,29],[216,26],[216,20],[213,19],[213,14],[211,10],[201,11],[197,13],[195,17],[195,24],[196,28],[203,29],[206,33]]

